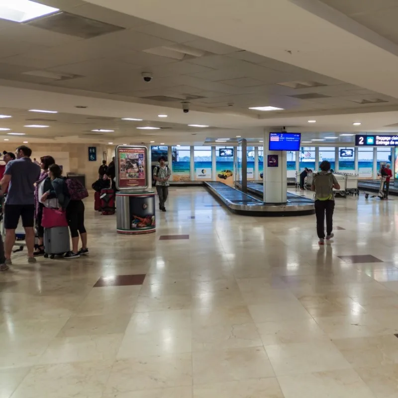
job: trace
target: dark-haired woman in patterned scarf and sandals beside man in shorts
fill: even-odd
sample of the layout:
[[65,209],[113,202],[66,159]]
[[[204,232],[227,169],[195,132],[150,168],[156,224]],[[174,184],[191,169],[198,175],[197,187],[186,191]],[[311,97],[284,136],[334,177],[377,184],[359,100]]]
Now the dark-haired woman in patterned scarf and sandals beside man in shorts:
[[34,190],[35,220],[37,236],[39,237],[39,242],[36,245],[35,251],[33,253],[35,257],[44,256],[44,228],[41,226],[41,219],[43,217],[43,208],[46,205],[50,205],[50,202],[47,201],[47,203],[43,203],[41,198],[45,192],[51,190],[51,179],[48,177],[48,168],[54,163],[55,160],[52,156],[46,155],[40,158],[40,167],[42,172],[39,179],[36,181],[36,187]]

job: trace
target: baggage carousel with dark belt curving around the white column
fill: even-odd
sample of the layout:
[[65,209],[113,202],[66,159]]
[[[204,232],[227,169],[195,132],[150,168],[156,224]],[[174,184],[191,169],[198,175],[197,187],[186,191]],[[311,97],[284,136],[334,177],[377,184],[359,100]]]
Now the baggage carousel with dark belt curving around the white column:
[[[252,184],[262,188],[260,184]],[[286,203],[264,203],[252,195],[245,194],[221,182],[206,182],[204,186],[211,195],[236,214],[276,217],[308,215],[315,212],[313,200],[290,193],[288,193],[288,202]]]

